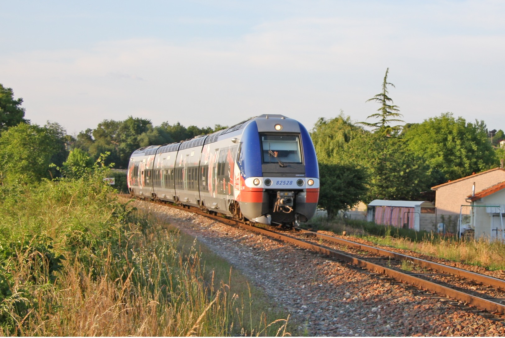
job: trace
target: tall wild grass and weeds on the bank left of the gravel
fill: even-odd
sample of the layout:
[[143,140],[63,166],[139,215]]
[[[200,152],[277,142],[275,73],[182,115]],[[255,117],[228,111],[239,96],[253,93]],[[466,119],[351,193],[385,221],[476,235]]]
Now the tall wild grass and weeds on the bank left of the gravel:
[[0,335],[285,334],[275,319],[287,316],[268,307],[223,260],[119,203],[98,175],[0,187]]

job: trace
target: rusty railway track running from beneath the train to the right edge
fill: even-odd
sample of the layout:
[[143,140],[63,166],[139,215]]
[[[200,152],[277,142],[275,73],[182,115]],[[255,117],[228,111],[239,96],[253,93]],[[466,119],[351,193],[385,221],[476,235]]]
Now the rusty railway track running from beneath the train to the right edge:
[[[499,315],[500,317],[497,319],[500,320],[503,319],[502,315],[505,314],[505,280],[503,279],[363,245],[315,231],[301,228],[279,231],[278,228],[249,225],[235,219],[210,215],[193,208],[175,208],[210,217],[228,225],[240,226],[282,242],[388,276],[401,283],[414,285],[417,288],[437,294],[442,298],[460,302],[455,304],[474,307]],[[411,271],[405,271],[402,268],[406,266]]]

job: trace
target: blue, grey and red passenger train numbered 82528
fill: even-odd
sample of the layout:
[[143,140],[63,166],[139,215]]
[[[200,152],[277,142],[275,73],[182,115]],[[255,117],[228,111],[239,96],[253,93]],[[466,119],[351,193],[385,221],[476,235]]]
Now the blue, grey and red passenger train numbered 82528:
[[135,150],[132,197],[198,207],[251,223],[298,226],[317,209],[319,168],[307,129],[264,114],[192,139]]

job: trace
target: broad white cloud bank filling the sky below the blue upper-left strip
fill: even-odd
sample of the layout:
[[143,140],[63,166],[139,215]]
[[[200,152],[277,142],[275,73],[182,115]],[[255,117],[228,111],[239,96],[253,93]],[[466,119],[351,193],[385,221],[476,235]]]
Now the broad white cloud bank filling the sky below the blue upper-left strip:
[[316,8],[269,18],[239,38],[136,38],[4,54],[0,79],[23,96],[28,119],[69,132],[128,115],[213,126],[263,113],[310,129],[340,109],[358,121],[374,113],[365,101],[389,67],[390,95],[407,122],[452,111],[505,129],[503,6],[489,2],[493,12],[478,4],[390,6],[373,16],[373,4],[360,16]]

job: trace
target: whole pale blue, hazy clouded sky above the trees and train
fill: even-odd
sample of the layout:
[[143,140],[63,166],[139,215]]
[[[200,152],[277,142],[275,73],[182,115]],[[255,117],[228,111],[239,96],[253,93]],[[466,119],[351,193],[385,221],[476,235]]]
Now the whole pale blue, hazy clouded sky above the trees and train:
[[2,1],[0,83],[69,134],[129,116],[311,130],[389,96],[402,120],[451,112],[505,130],[505,2]]

